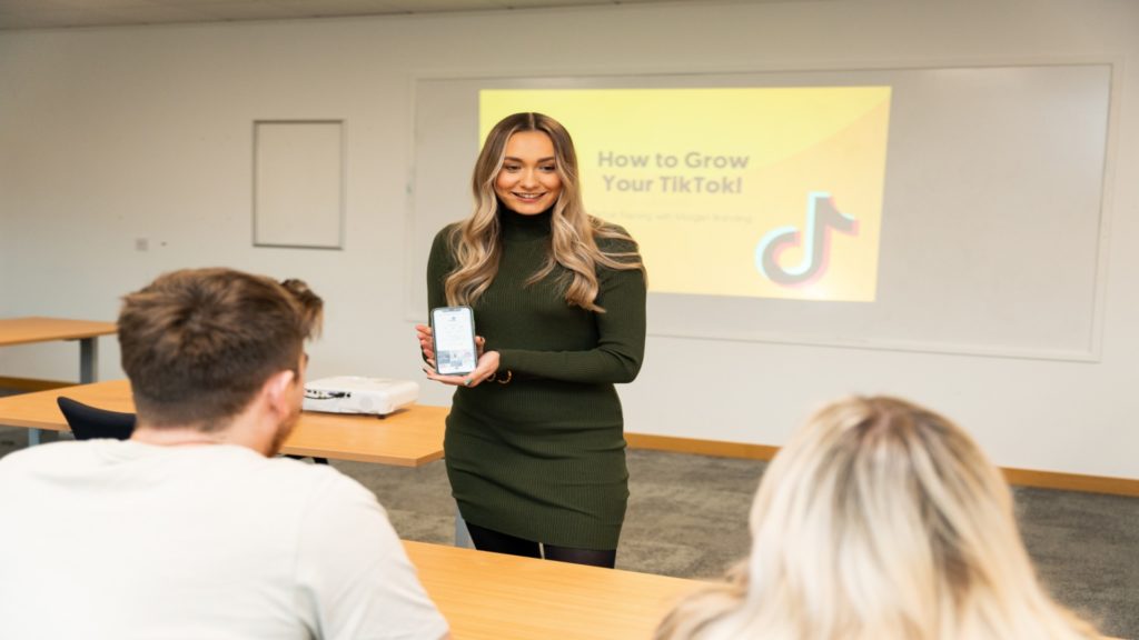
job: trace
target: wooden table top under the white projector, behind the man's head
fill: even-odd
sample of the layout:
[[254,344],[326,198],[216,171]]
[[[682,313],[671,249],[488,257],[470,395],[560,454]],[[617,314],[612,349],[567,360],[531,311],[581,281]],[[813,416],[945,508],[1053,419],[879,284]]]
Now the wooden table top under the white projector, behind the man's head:
[[[0,425],[68,430],[56,397],[112,411],[134,411],[128,380],[108,380],[0,397]],[[413,404],[384,418],[305,411],[281,453],[418,467],[443,457],[450,409]]]

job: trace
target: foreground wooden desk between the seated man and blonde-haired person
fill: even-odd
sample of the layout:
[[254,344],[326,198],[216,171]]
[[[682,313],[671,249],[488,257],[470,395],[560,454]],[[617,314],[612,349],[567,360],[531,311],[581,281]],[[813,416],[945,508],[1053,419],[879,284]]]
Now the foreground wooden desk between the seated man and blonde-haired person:
[[403,542],[454,640],[653,637],[703,583],[473,549]]

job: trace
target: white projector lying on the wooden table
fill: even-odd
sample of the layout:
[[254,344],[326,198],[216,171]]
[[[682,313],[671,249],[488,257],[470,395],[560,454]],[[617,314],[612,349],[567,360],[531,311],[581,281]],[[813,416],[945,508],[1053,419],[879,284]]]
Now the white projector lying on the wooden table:
[[419,399],[419,385],[411,380],[336,376],[304,385],[305,411],[386,416]]

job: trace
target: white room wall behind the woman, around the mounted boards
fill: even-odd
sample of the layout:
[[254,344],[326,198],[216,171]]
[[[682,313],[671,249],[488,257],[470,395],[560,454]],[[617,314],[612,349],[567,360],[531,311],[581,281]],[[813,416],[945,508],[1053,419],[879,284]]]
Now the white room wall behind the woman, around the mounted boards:
[[[421,379],[403,315],[423,279],[404,246],[417,75],[1111,61],[1101,361],[653,337],[622,396],[630,432],[781,444],[825,400],[892,393],[959,420],[1000,465],[1139,477],[1136,25],[1124,0],[834,0],[3,33],[0,313],[109,320],[164,270],[227,264],[325,296],[312,375]],[[252,248],[257,118],[346,121],[344,251]],[[76,351],[0,350],[0,375],[74,377]],[[100,376],[121,375],[104,339]]]

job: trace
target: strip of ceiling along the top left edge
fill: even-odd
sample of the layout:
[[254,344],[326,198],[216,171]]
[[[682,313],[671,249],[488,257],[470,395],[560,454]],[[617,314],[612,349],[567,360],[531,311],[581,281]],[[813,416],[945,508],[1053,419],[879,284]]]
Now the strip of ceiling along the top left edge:
[[0,31],[495,11],[669,0],[0,0]]

